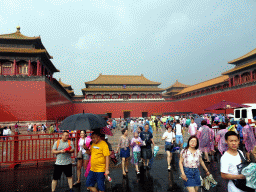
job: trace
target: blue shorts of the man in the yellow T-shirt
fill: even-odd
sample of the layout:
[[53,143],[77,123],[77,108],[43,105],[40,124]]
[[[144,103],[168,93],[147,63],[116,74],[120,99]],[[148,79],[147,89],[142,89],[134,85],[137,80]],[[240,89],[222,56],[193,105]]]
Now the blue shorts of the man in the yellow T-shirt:
[[93,172],[90,171],[87,180],[86,187],[94,187],[97,183],[99,191],[105,191],[105,172]]

